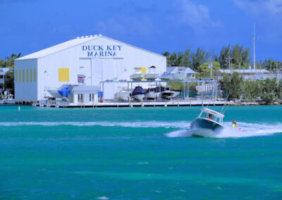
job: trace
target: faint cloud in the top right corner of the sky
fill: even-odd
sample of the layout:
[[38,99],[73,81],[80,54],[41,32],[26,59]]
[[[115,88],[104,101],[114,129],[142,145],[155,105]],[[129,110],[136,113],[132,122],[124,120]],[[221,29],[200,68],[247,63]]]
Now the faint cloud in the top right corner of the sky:
[[254,18],[282,17],[282,0],[233,0],[233,2]]

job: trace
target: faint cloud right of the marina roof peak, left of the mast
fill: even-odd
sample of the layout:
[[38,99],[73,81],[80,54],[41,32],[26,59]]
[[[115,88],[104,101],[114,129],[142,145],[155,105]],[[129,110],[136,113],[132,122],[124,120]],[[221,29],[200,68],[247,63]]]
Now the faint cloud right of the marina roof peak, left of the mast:
[[189,25],[195,29],[223,26],[220,20],[212,19],[208,6],[192,0],[175,0],[174,3],[176,6],[174,19],[179,20],[182,25]]

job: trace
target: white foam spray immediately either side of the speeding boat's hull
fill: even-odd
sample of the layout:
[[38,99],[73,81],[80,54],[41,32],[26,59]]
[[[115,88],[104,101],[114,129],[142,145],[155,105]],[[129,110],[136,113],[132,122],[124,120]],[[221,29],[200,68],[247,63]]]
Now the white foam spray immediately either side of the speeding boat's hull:
[[[228,138],[228,137],[257,137],[273,135],[274,133],[282,132],[282,124],[265,125],[254,123],[239,123],[241,130],[237,130],[231,127],[230,123],[224,123],[226,127],[224,130],[216,135],[216,138]],[[189,129],[176,130],[166,134],[167,137],[192,137],[192,132]]]

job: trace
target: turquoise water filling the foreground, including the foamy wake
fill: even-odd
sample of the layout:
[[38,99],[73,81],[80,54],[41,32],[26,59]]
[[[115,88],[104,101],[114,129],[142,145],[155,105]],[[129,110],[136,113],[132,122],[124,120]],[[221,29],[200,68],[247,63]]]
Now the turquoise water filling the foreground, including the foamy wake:
[[218,138],[199,111],[1,106],[0,199],[282,199],[282,106],[228,107]]

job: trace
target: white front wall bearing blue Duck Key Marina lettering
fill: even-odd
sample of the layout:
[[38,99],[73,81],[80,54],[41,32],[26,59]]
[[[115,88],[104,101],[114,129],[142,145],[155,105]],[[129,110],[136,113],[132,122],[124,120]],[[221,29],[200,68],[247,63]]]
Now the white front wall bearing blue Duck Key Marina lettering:
[[[100,53],[101,51],[103,53]],[[108,52],[111,54],[107,54]],[[38,93],[39,96],[50,96],[47,92],[49,88],[61,87],[63,84],[77,84],[80,74],[86,76],[85,85],[98,87],[99,82],[103,80],[130,80],[130,75],[135,72],[133,68],[149,68],[152,65],[157,67],[157,73],[164,73],[166,57],[117,42],[114,39],[100,37],[38,58]],[[69,69],[68,81],[59,81],[59,68]],[[127,87],[127,85],[105,84],[104,99],[113,99],[114,94],[121,87]]]

